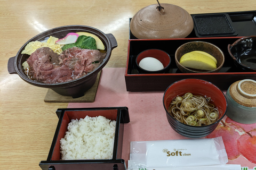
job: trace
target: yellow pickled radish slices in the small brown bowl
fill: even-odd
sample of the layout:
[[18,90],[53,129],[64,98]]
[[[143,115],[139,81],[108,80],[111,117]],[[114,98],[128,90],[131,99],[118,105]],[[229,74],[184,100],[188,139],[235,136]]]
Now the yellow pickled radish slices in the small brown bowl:
[[180,64],[191,69],[212,71],[217,69],[215,61],[202,53],[190,52],[180,58]]

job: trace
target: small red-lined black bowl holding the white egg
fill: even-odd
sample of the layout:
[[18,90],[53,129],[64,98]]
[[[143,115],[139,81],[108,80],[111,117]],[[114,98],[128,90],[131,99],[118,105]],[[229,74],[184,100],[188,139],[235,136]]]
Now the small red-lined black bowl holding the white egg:
[[[143,58],[146,57],[153,57],[156,58],[158,61],[160,61],[164,68],[161,70],[156,70],[156,71],[149,71],[149,70],[145,70],[142,69],[139,64],[140,61]],[[164,52],[163,50],[160,49],[147,49],[144,50],[143,52],[141,52],[137,57],[136,57],[136,65],[137,65],[137,70],[139,71],[139,73],[145,73],[145,74],[159,74],[159,73],[166,73],[169,71],[170,67],[171,67],[171,57],[168,53]]]

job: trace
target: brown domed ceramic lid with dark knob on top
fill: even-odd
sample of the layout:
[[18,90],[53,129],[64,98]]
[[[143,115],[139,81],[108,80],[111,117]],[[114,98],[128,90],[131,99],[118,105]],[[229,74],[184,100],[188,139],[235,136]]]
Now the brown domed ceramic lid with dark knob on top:
[[194,29],[191,15],[172,4],[149,5],[132,18],[130,29],[139,39],[185,38]]

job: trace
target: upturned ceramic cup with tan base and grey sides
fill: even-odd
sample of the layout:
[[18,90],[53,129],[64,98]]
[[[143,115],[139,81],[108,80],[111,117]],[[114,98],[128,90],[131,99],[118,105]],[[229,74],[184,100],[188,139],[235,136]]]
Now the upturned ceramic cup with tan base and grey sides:
[[226,93],[228,108],[226,115],[238,123],[256,123],[256,81],[236,81]]

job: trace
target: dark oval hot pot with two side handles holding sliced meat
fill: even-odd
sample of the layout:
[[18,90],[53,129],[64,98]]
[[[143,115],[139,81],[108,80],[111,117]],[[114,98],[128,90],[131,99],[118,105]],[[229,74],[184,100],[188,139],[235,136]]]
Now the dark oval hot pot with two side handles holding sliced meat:
[[[65,41],[65,37],[69,33],[78,33],[81,35],[85,33],[86,36],[92,35],[92,37],[98,38],[102,42],[102,46],[105,49],[100,49],[100,53],[105,53],[105,58],[98,63],[98,66],[94,68],[94,70],[86,73],[85,75],[78,77],[74,80],[65,81],[65,82],[57,82],[57,83],[45,83],[42,81],[36,81],[33,79],[30,79],[28,75],[25,73],[25,69],[22,66],[24,62],[27,61],[27,59],[30,57],[29,54],[23,54],[23,50],[25,50],[25,47],[27,48],[27,45],[34,41],[44,41],[46,38],[49,37],[57,37],[59,41]],[[88,34],[88,35],[87,35]],[[84,35],[83,35],[84,36]],[[85,37],[86,37],[85,36]],[[78,37],[79,38],[79,37]],[[77,40],[78,40],[77,38]],[[57,41],[56,41],[57,42]],[[97,40],[96,40],[96,43]],[[63,45],[62,45],[63,47]],[[98,47],[98,44],[97,44]],[[89,90],[97,80],[98,73],[102,70],[102,68],[107,64],[109,61],[111,52],[114,48],[117,47],[117,41],[115,37],[111,33],[103,33],[102,31],[84,26],[84,25],[67,25],[63,27],[53,28],[51,30],[47,30],[45,32],[40,33],[39,35],[31,38],[29,41],[27,41],[26,44],[24,44],[16,56],[9,58],[8,61],[8,71],[10,74],[18,74],[19,77],[28,82],[29,84],[32,84],[37,87],[43,87],[43,88],[50,88],[53,91],[57,92],[60,95],[63,96],[72,96],[73,98],[84,96],[84,92]],[[77,47],[73,47],[77,48]],[[63,50],[64,51],[64,50]]]

